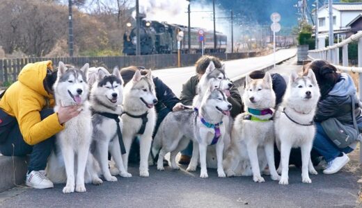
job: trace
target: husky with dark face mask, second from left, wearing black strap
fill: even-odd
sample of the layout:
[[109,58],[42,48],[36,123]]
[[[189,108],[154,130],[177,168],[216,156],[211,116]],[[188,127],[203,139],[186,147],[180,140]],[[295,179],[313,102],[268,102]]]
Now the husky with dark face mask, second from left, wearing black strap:
[[122,129],[122,121],[116,122],[116,119],[120,119],[118,115],[123,112],[122,102],[123,79],[119,69],[115,67],[112,74],[103,69],[97,69],[97,78],[91,89],[92,153],[100,164],[102,175],[107,181],[117,181],[117,178],[109,172],[108,151],[116,163],[120,176],[132,176],[125,171],[117,134],[117,125],[119,129]]

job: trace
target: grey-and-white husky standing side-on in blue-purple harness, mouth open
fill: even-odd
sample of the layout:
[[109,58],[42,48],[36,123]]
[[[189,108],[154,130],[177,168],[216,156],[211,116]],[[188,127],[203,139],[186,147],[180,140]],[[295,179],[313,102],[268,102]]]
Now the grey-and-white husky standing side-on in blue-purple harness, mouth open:
[[200,177],[208,177],[206,148],[210,144],[216,144],[217,173],[219,177],[225,177],[222,160],[223,136],[226,128],[222,124],[222,119],[223,116],[230,115],[230,110],[231,104],[226,100],[223,91],[219,88],[214,89],[211,85],[209,91],[205,93],[203,101],[201,101],[199,110],[183,110],[169,113],[161,123],[152,146],[154,155],[161,148],[157,169],[159,171],[164,170],[162,159],[168,152],[171,152],[171,167],[179,169],[180,167],[175,163],[175,157],[180,150],[187,147],[190,139],[192,139],[194,141],[194,150],[187,171],[196,171],[200,150]]

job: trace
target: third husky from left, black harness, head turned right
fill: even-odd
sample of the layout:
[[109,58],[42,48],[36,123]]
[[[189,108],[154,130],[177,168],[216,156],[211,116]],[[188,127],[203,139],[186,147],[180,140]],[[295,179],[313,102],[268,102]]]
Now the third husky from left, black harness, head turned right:
[[123,157],[125,171],[128,166],[129,148],[131,148],[134,137],[140,139],[139,175],[148,177],[148,155],[152,144],[152,132],[155,127],[156,113],[153,107],[157,103],[155,84],[152,80],[151,70],[146,76],[141,71],[134,73],[132,80],[125,85],[123,92],[124,112],[121,116],[123,121],[123,139],[126,152]]

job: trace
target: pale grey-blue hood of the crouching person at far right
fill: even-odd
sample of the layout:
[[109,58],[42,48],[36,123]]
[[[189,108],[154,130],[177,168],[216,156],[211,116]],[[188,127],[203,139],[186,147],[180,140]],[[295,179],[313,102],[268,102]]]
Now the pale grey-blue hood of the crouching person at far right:
[[331,96],[348,96],[356,94],[357,90],[354,87],[352,77],[347,73],[340,73],[340,80],[334,85],[333,89],[329,92]]

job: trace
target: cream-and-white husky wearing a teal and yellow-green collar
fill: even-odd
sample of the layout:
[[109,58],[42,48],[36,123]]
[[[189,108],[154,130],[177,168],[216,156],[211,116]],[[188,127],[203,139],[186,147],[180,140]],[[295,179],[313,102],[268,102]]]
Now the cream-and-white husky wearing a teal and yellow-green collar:
[[[263,79],[246,76],[242,96],[245,111],[235,118],[231,145],[223,162],[228,176],[251,175],[255,182],[265,182],[260,175],[267,164],[272,180],[279,180],[274,164],[274,125],[272,121],[275,94],[272,77],[267,72]],[[251,166],[251,168],[250,168]]]

